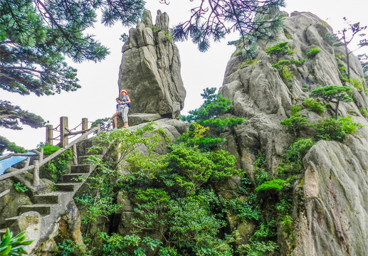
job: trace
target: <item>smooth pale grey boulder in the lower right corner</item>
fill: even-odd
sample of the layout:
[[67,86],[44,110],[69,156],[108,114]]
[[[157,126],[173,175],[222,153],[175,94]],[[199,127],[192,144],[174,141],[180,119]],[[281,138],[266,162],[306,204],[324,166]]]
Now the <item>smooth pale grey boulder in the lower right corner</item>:
[[368,255],[367,134],[318,142],[303,159],[305,211],[292,255]]

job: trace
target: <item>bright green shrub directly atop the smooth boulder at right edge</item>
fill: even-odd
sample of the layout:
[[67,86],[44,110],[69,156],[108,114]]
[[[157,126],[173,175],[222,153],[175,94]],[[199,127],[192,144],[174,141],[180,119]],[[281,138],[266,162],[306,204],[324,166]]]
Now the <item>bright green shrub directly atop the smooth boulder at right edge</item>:
[[345,139],[347,135],[357,132],[359,127],[363,127],[362,124],[353,122],[350,117],[339,117],[337,119],[328,117],[312,124],[312,126],[317,128],[317,139],[339,142]]

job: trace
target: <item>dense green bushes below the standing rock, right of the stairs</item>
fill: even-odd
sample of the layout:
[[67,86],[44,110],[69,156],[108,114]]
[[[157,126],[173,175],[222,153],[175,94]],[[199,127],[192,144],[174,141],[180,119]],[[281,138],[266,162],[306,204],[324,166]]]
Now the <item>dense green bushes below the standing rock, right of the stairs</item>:
[[[147,132],[153,132],[152,136],[142,136]],[[102,132],[98,137],[93,150],[112,142],[120,157],[112,164],[90,156],[98,171],[88,178],[88,193],[75,198],[85,206],[83,223],[89,227],[97,218],[109,218],[119,210],[121,206],[113,199],[117,191],[132,198],[135,214],[132,233],[100,233],[104,243],[101,248],[91,248],[93,254],[144,255],[159,250],[159,255],[233,255],[229,244],[235,234],[219,238],[226,222],[211,187],[234,174],[241,175],[233,167],[235,157],[227,151],[202,152],[186,144],[173,145],[160,156],[154,149],[162,139],[162,132],[154,131],[153,124],[135,131]],[[148,149],[144,155],[136,150],[143,145]],[[118,167],[126,171],[117,171]],[[84,233],[88,235],[88,228]]]

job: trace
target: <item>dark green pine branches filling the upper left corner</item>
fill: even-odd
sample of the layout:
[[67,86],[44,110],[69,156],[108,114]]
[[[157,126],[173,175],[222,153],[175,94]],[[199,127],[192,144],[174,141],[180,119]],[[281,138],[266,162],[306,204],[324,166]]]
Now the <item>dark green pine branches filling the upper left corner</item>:
[[[100,61],[108,54],[93,36],[83,34],[95,23],[97,11],[107,26],[115,21],[131,26],[142,17],[144,1],[0,0],[1,89],[41,96],[80,88],[77,70],[65,56],[82,62]],[[1,127],[9,129],[21,129],[19,119],[31,127],[44,123],[36,114],[2,100],[0,117]],[[2,142],[6,147],[9,141]]]

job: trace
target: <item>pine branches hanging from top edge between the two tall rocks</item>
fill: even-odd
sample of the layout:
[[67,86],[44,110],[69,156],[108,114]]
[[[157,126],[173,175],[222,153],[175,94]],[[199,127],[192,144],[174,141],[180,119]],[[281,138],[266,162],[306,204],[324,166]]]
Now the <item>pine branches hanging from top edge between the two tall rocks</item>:
[[[168,0],[162,0],[168,3]],[[231,31],[238,31],[241,38],[265,38],[274,34],[283,17],[278,8],[284,0],[204,0],[191,9],[189,20],[174,27],[174,39],[189,37],[206,51],[210,38],[220,41]]]

